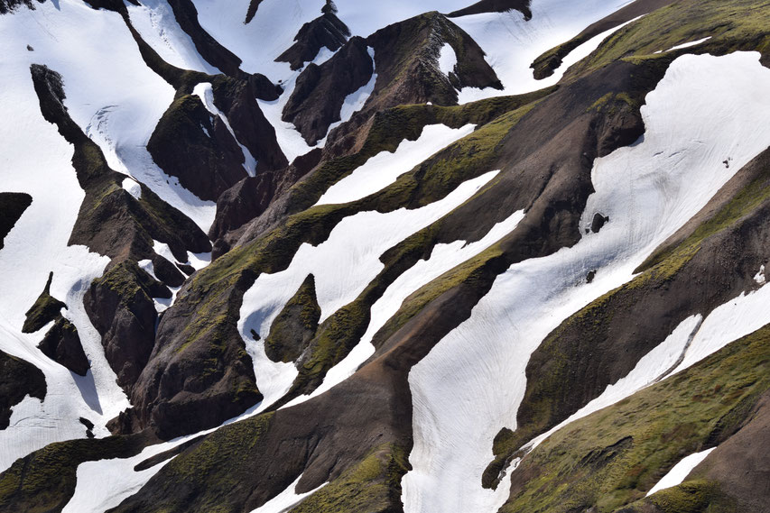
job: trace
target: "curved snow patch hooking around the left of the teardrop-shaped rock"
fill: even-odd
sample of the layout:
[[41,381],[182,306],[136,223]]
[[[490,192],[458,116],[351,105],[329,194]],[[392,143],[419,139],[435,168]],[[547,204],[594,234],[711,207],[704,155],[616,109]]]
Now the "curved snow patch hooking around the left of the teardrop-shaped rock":
[[[415,210],[359,212],[343,219],[318,246],[303,243],[286,270],[261,274],[244,295],[238,331],[255,365],[257,387],[269,405],[289,389],[297,375],[292,363],[272,362],[264,353],[264,337],[283,306],[309,274],[315,277],[320,322],[353,301],[376,278],[384,265],[380,255],[409,235],[437,221],[472,197],[493,179],[490,171],[469,179],[440,201]],[[260,335],[255,342],[251,331]]]

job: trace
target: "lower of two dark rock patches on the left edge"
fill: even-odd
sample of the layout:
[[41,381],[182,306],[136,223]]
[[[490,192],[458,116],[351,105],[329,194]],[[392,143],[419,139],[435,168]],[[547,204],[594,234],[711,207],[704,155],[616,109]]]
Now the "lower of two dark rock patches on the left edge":
[[45,398],[45,376],[30,362],[0,351],[0,430],[8,427],[11,408],[21,400]]

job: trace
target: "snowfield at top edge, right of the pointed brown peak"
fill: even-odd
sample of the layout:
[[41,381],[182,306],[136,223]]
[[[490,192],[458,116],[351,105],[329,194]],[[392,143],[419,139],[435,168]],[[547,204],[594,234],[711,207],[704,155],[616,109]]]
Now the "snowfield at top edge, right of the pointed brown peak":
[[465,87],[459,93],[459,102],[463,104],[489,96],[522,94],[552,86],[561,79],[566,69],[596,50],[601,41],[620,27],[599,34],[572,50],[550,78],[535,80],[530,69],[533,61],[627,4],[626,0],[533,0],[533,16],[528,22],[517,11],[452,19],[487,53],[487,62],[505,87],[504,91]]

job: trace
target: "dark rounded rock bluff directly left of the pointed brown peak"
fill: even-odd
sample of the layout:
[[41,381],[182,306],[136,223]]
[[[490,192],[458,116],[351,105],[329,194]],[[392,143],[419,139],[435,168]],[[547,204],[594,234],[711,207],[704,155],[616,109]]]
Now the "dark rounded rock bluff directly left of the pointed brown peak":
[[374,73],[366,41],[354,37],[320,66],[309,64],[283,109],[283,121],[293,123],[305,141],[315,144],[340,120],[345,98],[366,86]]

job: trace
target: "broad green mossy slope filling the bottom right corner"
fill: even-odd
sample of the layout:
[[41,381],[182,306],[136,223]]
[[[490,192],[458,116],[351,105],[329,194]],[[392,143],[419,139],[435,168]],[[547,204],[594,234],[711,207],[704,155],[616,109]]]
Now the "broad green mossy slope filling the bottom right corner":
[[[770,389],[768,371],[770,326],[765,326],[691,369],[565,426],[524,458],[515,472],[534,477],[501,511],[596,507],[603,513],[643,499],[683,456],[731,435],[714,435],[719,420],[731,412],[743,412],[745,420],[746,401],[756,404]],[[703,499],[690,495],[687,501],[671,499],[684,509],[670,510],[702,510],[697,507]]]

